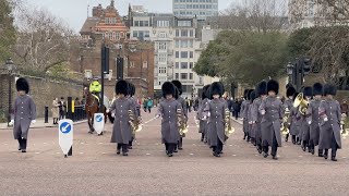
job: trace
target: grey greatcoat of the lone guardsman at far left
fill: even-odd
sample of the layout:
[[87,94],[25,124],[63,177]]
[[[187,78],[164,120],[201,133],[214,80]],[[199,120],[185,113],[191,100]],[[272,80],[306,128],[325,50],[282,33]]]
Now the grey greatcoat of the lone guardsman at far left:
[[27,139],[32,120],[36,120],[36,106],[31,96],[24,95],[14,101],[14,139],[21,137]]

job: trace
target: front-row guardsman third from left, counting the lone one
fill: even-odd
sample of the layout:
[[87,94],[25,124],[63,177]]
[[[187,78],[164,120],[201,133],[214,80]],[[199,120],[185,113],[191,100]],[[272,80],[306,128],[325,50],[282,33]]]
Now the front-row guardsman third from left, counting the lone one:
[[165,98],[158,108],[157,118],[161,117],[161,142],[165,144],[166,155],[172,157],[180,139],[179,124],[185,122],[182,106],[176,100],[176,86],[165,82],[161,86]]

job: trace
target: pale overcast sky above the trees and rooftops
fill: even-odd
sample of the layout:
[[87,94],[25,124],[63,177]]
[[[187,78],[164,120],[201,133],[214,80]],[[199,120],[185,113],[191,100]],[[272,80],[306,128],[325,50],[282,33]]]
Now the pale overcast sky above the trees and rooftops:
[[[236,0],[219,0],[219,10],[228,8]],[[44,7],[52,14],[64,20],[71,28],[77,33],[87,16],[87,4],[91,9],[98,3],[104,7],[110,4],[110,0],[28,0],[36,7]],[[129,3],[143,4],[149,12],[172,12],[172,0],[116,0],[117,9],[124,15]]]

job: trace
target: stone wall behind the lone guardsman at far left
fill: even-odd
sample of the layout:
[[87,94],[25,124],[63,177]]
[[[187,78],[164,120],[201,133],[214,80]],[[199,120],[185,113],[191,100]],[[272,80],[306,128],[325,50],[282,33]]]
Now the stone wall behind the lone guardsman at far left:
[[[25,77],[31,86],[31,96],[33,97],[36,103],[36,110],[38,118],[44,118],[45,115],[45,106],[49,107],[49,115],[51,115],[50,109],[52,106],[52,100],[57,97],[76,97],[80,100],[83,97],[83,84],[72,83],[72,82],[58,82],[50,81],[40,77],[32,77],[32,76],[23,76]],[[9,107],[9,76],[1,75],[0,77],[0,110],[5,111],[8,113]],[[15,77],[12,77],[12,107],[15,99]]]

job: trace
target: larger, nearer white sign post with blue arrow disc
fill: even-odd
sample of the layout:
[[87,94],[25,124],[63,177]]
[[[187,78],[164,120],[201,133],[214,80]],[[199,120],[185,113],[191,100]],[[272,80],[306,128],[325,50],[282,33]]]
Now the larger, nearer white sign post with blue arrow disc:
[[63,119],[59,121],[59,146],[61,147],[64,157],[67,158],[73,146],[73,121]]

